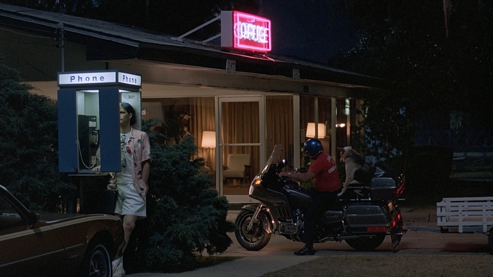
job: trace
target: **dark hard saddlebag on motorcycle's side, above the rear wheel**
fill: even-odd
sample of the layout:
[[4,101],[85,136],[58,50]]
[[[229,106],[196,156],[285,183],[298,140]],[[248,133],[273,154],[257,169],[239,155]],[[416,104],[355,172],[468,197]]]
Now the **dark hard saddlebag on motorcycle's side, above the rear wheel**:
[[366,232],[372,226],[390,226],[392,219],[385,207],[372,203],[354,203],[344,211],[346,225],[352,232]]

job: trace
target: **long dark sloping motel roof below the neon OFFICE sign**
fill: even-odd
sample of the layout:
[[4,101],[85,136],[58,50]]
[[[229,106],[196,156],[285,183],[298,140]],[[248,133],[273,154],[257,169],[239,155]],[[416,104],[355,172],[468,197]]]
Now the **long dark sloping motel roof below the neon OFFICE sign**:
[[63,24],[67,41],[86,45],[88,61],[140,60],[223,72],[226,71],[227,63],[234,61],[235,74],[298,79],[314,84],[354,88],[361,92],[384,89],[384,82],[371,76],[273,54],[233,52],[218,45],[192,40],[177,41],[169,35],[90,18],[7,4],[0,4],[0,18],[10,27],[54,38],[58,38],[57,31]]

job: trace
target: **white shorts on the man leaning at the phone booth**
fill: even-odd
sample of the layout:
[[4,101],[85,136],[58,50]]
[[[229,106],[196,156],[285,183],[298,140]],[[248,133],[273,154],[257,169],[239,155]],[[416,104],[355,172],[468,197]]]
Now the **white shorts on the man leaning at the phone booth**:
[[132,183],[118,184],[118,199],[116,201],[115,213],[120,215],[132,214],[137,215],[138,219],[145,218],[146,203],[135,190]]

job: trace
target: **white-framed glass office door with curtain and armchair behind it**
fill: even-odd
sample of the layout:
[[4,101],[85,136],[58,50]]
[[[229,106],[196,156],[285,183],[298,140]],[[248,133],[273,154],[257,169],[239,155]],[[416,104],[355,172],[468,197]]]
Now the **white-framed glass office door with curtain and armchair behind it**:
[[250,183],[264,163],[265,130],[262,96],[218,98],[219,148],[216,182],[229,202],[251,202]]

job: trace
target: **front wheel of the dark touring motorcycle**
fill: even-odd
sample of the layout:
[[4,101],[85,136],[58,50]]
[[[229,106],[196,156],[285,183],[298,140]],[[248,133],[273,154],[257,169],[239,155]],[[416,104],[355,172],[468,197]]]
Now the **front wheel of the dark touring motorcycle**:
[[246,250],[258,251],[267,245],[271,234],[264,230],[264,221],[262,218],[257,218],[258,221],[253,223],[252,229],[247,230],[252,219],[253,211],[241,210],[235,221],[236,225],[238,225],[235,236],[240,245]]

